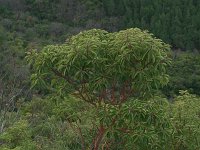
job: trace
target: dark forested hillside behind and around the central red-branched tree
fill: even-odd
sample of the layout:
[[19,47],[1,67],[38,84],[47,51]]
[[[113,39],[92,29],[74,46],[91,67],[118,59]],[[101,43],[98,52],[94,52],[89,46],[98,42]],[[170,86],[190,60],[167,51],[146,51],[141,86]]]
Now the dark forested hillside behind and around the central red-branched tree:
[[[173,102],[179,90],[187,90],[198,97],[199,0],[0,0],[0,134],[17,125],[19,129],[26,128],[24,124],[27,123],[15,124],[25,116],[19,112],[27,113],[29,107],[34,112],[40,111],[36,109],[39,106],[34,106],[39,105],[38,99],[45,99],[41,110],[46,109],[46,105],[53,107],[46,100],[47,89],[31,89],[32,70],[25,60],[27,52],[33,49],[39,52],[46,45],[64,43],[83,30],[98,28],[116,32],[134,27],[148,30],[171,45],[172,64],[167,68],[169,83],[159,89],[160,97]],[[52,115],[52,112],[45,113]],[[37,128],[43,131],[41,120],[36,118],[35,121],[39,124]],[[43,138],[43,142],[51,147],[52,133],[44,134],[41,136],[48,140]],[[0,147],[3,143],[0,139]],[[16,148],[20,144],[13,146],[11,142],[7,147]]]

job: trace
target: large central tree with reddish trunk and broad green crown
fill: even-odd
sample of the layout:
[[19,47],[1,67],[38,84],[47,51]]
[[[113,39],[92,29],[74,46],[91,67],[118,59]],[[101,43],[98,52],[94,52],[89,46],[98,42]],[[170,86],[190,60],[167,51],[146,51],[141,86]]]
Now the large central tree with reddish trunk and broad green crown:
[[168,121],[160,105],[155,109],[149,100],[154,89],[168,82],[169,49],[138,28],[115,33],[93,29],[72,36],[63,45],[31,51],[27,59],[34,71],[33,85],[62,96],[73,94],[91,104],[97,129],[90,148],[97,150],[102,143],[109,147],[122,139],[129,148],[148,149],[151,144],[153,149],[165,141],[163,128]]

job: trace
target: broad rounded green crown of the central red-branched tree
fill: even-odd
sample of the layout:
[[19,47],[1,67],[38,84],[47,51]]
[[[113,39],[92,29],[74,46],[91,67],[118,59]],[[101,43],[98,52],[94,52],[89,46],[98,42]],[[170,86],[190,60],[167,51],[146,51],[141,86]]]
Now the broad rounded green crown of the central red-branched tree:
[[33,83],[62,94],[78,92],[92,104],[119,104],[144,97],[168,81],[169,45],[138,28],[108,33],[89,30],[63,45],[31,51]]

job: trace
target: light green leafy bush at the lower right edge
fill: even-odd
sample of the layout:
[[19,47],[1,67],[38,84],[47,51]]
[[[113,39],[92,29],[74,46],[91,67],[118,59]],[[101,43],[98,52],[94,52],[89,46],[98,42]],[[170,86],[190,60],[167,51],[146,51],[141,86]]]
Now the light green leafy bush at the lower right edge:
[[200,149],[200,98],[187,91],[180,94],[171,105],[174,149]]

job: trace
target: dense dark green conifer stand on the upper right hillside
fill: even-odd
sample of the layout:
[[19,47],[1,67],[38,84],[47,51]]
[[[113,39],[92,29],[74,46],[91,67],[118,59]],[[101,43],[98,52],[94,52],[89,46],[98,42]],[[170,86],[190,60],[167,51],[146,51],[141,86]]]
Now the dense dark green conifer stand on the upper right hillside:
[[108,16],[121,16],[122,27],[148,29],[174,48],[200,48],[198,0],[103,0]]

